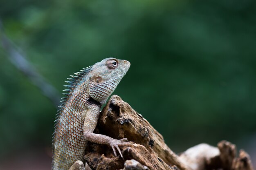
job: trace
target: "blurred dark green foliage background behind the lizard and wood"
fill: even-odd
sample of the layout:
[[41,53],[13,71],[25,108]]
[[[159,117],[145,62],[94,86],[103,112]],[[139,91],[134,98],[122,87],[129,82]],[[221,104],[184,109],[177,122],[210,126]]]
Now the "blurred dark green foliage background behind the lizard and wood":
[[[59,94],[73,72],[126,59],[113,94],[172,150],[226,139],[256,159],[255,0],[1,0],[0,18]],[[0,158],[50,157],[56,108],[8,55],[0,47]]]

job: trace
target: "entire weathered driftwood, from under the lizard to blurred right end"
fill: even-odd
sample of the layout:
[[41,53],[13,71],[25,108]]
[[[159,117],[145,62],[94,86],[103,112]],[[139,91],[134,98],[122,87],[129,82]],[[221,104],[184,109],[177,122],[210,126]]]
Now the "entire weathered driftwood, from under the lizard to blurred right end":
[[199,144],[176,155],[162,135],[117,95],[101,111],[94,132],[127,138],[134,145],[121,147],[121,159],[110,147],[89,142],[85,160],[93,170],[253,170],[249,155],[241,150],[236,158],[236,146],[227,141],[218,147]]

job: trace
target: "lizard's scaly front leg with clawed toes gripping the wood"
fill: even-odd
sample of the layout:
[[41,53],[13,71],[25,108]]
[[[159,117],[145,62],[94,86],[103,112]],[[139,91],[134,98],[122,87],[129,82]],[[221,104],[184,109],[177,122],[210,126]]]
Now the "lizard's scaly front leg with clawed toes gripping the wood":
[[[92,106],[92,105],[91,105]],[[97,121],[99,119],[99,106],[92,106],[91,109],[88,110],[85,116],[84,126],[83,126],[83,136],[86,140],[97,143],[97,144],[107,144],[109,145],[112,150],[114,151],[115,156],[117,156],[116,150],[118,150],[119,154],[123,158],[121,150],[119,146],[128,146],[132,145],[130,142],[127,141],[126,138],[123,139],[113,139],[112,137],[108,137],[106,135],[95,134],[93,133]]]

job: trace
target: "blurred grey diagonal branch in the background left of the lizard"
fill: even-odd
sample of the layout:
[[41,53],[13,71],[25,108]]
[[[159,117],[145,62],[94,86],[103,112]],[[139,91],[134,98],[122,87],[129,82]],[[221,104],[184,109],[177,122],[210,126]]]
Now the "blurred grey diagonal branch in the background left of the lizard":
[[58,91],[54,86],[49,84],[46,79],[38,73],[36,68],[25,58],[24,55],[21,55],[17,47],[9,40],[7,35],[4,33],[3,25],[0,20],[0,41],[3,49],[9,54],[8,59],[11,63],[18,68],[35,86],[37,86],[40,91],[48,97],[54,106],[58,106],[60,104],[59,99],[60,96]]

